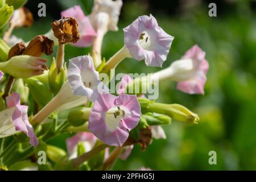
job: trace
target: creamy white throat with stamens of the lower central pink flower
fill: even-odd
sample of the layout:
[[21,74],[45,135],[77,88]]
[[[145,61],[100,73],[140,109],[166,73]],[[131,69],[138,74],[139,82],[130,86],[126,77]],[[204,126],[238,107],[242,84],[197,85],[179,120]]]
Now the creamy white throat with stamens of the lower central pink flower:
[[130,112],[125,107],[112,107],[106,113],[106,125],[108,126],[110,131],[115,131],[117,130],[121,119],[126,118],[128,115],[130,115]]

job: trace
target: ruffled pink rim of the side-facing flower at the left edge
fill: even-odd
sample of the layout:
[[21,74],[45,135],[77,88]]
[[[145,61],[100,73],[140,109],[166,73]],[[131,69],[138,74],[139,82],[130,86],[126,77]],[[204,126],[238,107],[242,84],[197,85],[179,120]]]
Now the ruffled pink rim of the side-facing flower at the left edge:
[[27,116],[28,106],[20,105],[20,96],[18,93],[11,93],[6,97],[7,106],[9,108],[15,107],[13,113],[13,122],[16,131],[23,131],[28,137],[30,137],[30,144],[34,147],[38,146],[38,138],[34,133],[33,127],[30,125]]

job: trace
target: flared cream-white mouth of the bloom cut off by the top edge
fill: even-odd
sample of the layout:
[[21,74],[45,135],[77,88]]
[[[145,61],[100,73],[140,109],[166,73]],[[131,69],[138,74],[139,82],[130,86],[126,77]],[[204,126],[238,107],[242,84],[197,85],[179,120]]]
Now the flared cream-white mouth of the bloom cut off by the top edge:
[[108,30],[118,31],[117,23],[122,5],[122,0],[94,0],[89,18],[95,30],[104,28],[101,31],[105,33]]

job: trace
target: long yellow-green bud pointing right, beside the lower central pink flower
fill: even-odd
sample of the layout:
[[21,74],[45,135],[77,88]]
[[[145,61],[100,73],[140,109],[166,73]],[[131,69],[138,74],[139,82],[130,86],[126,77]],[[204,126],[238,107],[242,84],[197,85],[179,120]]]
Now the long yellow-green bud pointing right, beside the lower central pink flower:
[[179,104],[162,104],[158,102],[147,101],[146,98],[138,98],[142,107],[142,113],[154,112],[170,116],[176,121],[197,124],[199,117],[197,114],[188,110]]

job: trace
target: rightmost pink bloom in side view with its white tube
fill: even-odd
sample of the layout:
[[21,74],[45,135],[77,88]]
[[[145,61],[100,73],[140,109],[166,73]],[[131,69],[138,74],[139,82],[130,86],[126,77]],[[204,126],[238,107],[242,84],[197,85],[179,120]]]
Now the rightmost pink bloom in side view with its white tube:
[[204,94],[209,64],[205,60],[205,52],[197,45],[189,49],[185,55],[174,61],[170,67],[152,75],[159,81],[170,79],[177,81],[177,89],[189,94]]

